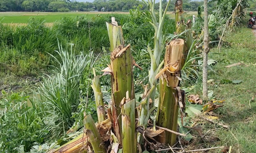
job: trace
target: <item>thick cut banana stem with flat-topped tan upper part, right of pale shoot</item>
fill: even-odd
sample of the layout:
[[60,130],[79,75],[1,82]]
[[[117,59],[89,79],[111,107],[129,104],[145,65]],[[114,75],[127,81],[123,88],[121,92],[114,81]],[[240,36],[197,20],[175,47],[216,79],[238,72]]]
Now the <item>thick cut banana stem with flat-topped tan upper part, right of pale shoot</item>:
[[[166,46],[165,67],[158,73],[160,78],[160,95],[157,110],[156,124],[163,128],[177,131],[177,119],[180,107],[185,107],[179,96],[181,61],[184,49],[183,39],[174,39]],[[174,145],[176,134],[163,132],[158,137],[160,143]]]

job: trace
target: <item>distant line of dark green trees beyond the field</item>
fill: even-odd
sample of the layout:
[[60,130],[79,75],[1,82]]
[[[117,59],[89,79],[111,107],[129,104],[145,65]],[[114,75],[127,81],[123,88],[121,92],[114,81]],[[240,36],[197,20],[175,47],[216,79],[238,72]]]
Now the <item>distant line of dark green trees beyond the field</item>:
[[[174,10],[175,0],[171,0],[168,11]],[[162,0],[162,7],[165,8],[167,0]],[[95,0],[94,2],[77,2],[70,0],[0,0],[0,12],[69,12],[69,11],[128,11],[134,6],[143,5],[142,9],[147,6],[138,0]],[[183,0],[183,9],[185,11],[197,11],[198,6],[202,6],[202,1]],[[156,4],[156,9],[159,5]]]

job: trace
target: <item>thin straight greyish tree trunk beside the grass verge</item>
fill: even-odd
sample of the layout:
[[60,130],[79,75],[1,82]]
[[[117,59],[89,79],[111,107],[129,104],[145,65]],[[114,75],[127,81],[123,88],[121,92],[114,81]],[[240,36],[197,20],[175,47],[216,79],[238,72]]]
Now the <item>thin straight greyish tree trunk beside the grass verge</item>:
[[203,50],[203,97],[208,98],[208,53],[210,51],[209,48],[209,34],[208,34],[208,1],[204,0],[204,50]]

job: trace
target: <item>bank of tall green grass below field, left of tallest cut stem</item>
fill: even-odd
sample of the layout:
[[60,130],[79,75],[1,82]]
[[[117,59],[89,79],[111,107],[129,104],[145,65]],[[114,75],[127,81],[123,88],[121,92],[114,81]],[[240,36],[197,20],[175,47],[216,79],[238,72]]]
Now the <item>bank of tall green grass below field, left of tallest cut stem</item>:
[[[52,28],[45,26],[43,19],[34,18],[28,21],[27,26],[11,27],[0,23],[1,72],[19,76],[34,75],[37,71],[46,69],[47,65],[54,65],[48,53],[57,55],[53,52],[58,48],[57,38],[63,47],[74,44],[75,50],[85,50],[85,54],[90,48],[98,52],[103,46],[108,47],[105,22],[110,21],[111,16],[92,19],[87,19],[86,16],[64,17]],[[117,14],[113,16],[119,21],[125,17]]]

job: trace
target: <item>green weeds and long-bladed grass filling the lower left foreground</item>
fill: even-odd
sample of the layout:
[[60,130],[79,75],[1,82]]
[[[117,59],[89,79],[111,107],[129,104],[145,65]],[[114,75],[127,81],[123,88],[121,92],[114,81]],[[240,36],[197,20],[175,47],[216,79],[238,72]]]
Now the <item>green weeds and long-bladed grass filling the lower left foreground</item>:
[[[97,120],[95,102],[91,97],[87,101],[80,85],[84,83],[82,77],[89,78],[91,62],[96,59],[93,52],[85,56],[81,52],[76,56],[72,45],[70,48],[66,51],[59,46],[56,53],[60,60],[51,54],[56,63],[52,75],[43,78],[44,83],[28,102],[28,96],[2,92],[0,152],[29,152],[32,146],[31,152],[42,152],[49,147],[45,142],[54,141],[53,138],[81,122],[83,112],[93,114]],[[38,145],[34,146],[35,142]]]

